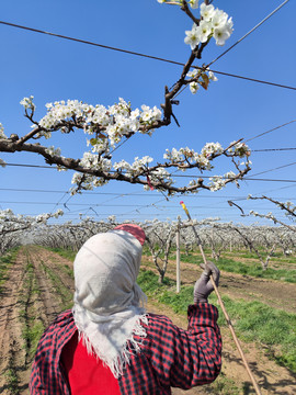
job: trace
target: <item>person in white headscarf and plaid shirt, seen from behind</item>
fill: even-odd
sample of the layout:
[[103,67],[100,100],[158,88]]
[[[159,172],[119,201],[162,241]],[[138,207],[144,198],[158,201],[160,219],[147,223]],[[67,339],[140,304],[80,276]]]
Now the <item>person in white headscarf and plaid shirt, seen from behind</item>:
[[73,308],[42,336],[33,395],[168,395],[213,382],[221,365],[218,311],[207,302],[219,270],[207,262],[194,286],[187,330],[147,313],[136,283],[145,232],[125,224],[92,236],[75,263]]

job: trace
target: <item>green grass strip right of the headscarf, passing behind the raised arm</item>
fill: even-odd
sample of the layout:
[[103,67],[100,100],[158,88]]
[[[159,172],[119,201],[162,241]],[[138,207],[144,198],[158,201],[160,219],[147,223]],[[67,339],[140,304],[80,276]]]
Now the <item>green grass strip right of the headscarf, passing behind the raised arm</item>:
[[[138,284],[148,296],[169,305],[175,313],[185,315],[187,306],[193,303],[193,286],[181,286],[181,292],[177,294],[174,281],[166,280],[161,285],[157,281],[157,274],[151,271],[141,271],[138,276]],[[235,301],[227,296],[223,300],[238,336],[247,342],[263,343],[271,359],[296,373],[296,315],[261,302]],[[209,302],[218,306],[213,293]],[[219,306],[218,309],[218,324],[226,326]]]

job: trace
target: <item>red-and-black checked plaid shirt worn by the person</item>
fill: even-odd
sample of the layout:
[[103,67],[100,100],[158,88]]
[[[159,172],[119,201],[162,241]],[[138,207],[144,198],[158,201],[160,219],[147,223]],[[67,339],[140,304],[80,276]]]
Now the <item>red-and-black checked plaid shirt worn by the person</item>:
[[[122,394],[169,395],[171,386],[189,390],[213,382],[220,371],[221,338],[218,311],[208,303],[189,306],[189,328],[181,329],[161,315],[149,314],[141,352],[118,379]],[[31,395],[68,395],[60,361],[64,346],[77,331],[71,311],[60,314],[44,332],[33,363]]]

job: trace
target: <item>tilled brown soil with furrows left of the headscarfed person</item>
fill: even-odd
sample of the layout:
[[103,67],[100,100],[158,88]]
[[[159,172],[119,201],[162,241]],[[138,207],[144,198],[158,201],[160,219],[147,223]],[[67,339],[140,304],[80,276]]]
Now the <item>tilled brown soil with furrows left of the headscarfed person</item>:
[[9,270],[0,298],[0,393],[3,395],[29,394],[37,342],[32,340],[30,331],[36,329],[42,335],[71,304],[73,280],[61,270],[59,261],[54,252],[23,247]]

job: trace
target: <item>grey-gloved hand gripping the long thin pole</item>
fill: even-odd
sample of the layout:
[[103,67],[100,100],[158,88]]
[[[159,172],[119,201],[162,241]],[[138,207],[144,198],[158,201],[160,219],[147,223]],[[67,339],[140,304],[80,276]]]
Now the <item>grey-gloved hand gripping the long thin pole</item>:
[[213,262],[207,261],[206,264],[202,263],[201,267],[204,269],[204,271],[194,285],[194,303],[207,302],[208,295],[212,291],[214,291],[214,285],[209,279],[210,274],[213,275],[215,284],[217,286],[219,284],[220,271]]

